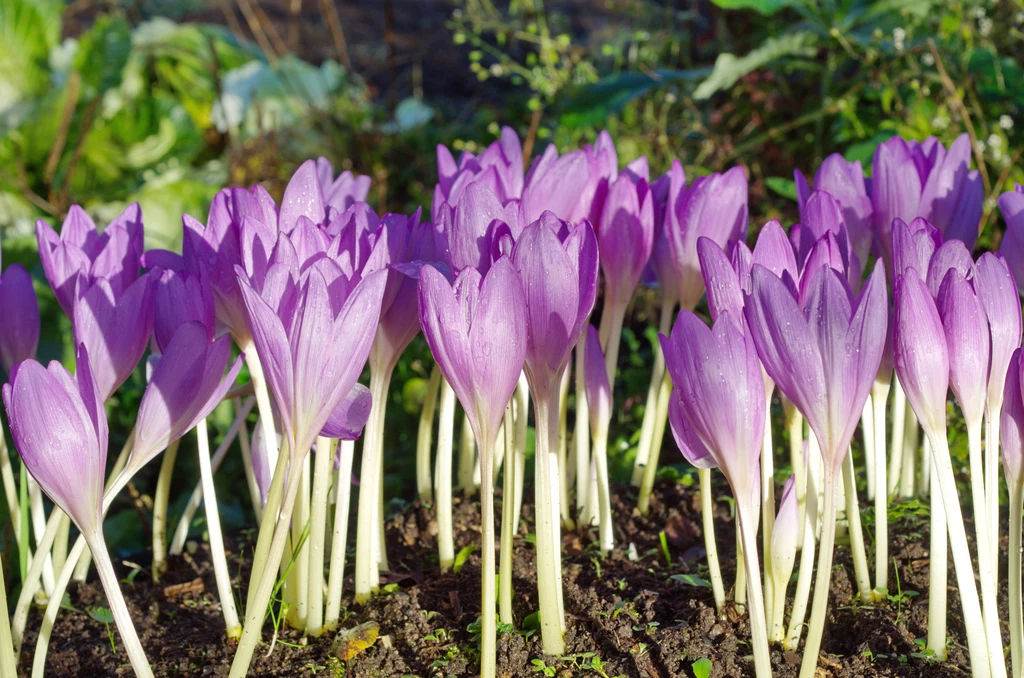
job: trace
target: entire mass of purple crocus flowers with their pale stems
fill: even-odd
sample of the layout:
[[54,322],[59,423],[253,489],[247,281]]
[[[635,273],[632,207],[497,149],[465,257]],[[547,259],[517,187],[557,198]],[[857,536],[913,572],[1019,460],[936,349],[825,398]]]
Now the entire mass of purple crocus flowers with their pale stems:
[[[436,366],[418,435],[417,484],[421,498],[434,499],[442,570],[455,561],[457,407],[464,417],[460,485],[467,493],[479,489],[480,674],[498,672],[498,620],[516,622],[512,550],[527,485],[530,395],[540,635],[546,653],[564,652],[561,531],[594,527],[602,555],[616,548],[608,477],[615,451],[608,435],[621,405],[620,339],[643,280],[657,285],[662,315],[636,448],[638,508],[649,508],[669,425],[683,457],[698,469],[708,568],[721,609],[727,590],[712,511],[712,472],[721,471],[736,507],[741,566],[734,596],[751,619],[759,678],[771,674],[769,643],[798,650],[805,627],[801,676],[814,675],[838,522],[849,534],[858,594],[884,600],[886,511],[896,483],[907,484],[909,494],[931,491],[929,646],[937,656],[945,647],[948,534],[972,671],[1005,675],[995,600],[1000,432],[1011,498],[1011,653],[1015,675],[1024,671],[1017,291],[1024,279],[1024,189],[999,199],[1008,223],[1001,256],[975,259],[982,204],[966,136],[948,150],[935,139],[889,140],[876,153],[869,182],[859,163],[840,156],[825,159],[813,183],[797,172],[800,222],[788,229],[764,224],[753,249],[745,243],[742,168],[687,183],[674,162],[652,177],[644,158],[620,167],[605,132],[579,151],[549,146],[527,166],[517,135],[505,128],[479,154],[457,160],[438,147],[437,170],[429,210],[378,215],[365,202],[367,177],[336,175],[325,159],[308,161],[280,203],[260,186],[225,188],[205,224],[184,216],[180,254],[144,250],[137,205],[102,230],[78,207],[59,235],[39,224],[42,268],[71,321],[77,364],[73,373],[34,359],[39,312],[32,279],[24,268],[8,268],[0,277],[0,362],[9,376],[3,399],[15,447],[35,479],[36,549],[12,624],[0,620],[0,673],[12,671],[15,655],[8,649],[20,647],[38,592],[48,598],[33,667],[42,675],[63,588],[76,569],[88,566],[88,548],[132,666],[151,675],[113,575],[102,516],[138,470],[164,453],[154,502],[153,575],[159,578],[168,552],[170,480],[179,441],[191,430],[200,482],[170,552],[181,548],[202,501],[225,632],[239,641],[230,675],[247,674],[267,609],[278,604],[275,592],[291,626],[313,637],[336,628],[360,435],[354,602],[369,600],[388,569],[386,405],[395,367],[421,330]],[[599,299],[595,327],[591,314]],[[698,314],[701,299],[710,326]],[[115,401],[147,350],[135,427],[104,478],[104,405]],[[237,383],[243,364],[251,383]],[[369,387],[357,383],[366,368]],[[894,443],[887,456],[893,372]],[[977,571],[946,441],[949,389],[969,433]],[[775,473],[776,393],[793,469],[784,484]],[[236,421],[211,454],[206,419],[226,400]],[[247,417],[254,407],[258,423],[250,438]],[[919,422],[926,436],[920,479]],[[876,506],[873,586],[856,483],[858,423]],[[236,437],[259,521],[245,619],[232,599],[214,490],[214,474]],[[0,456],[14,516],[18,497],[7,461]],[[55,505],[49,518],[40,492]],[[82,537],[69,550],[71,522]]]

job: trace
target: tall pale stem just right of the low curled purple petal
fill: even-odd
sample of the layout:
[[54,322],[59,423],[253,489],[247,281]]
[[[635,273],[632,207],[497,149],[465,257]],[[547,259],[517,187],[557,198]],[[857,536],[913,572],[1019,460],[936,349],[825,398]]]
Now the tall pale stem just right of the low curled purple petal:
[[[383,515],[380,515],[383,500],[381,489],[384,482],[384,418],[381,413],[387,404],[391,372],[386,369],[374,369],[376,367],[371,365],[370,369],[370,394],[373,397],[373,406],[362,432],[362,466],[359,469],[359,502],[355,522],[355,601],[358,603],[367,602],[370,595],[379,588],[380,561],[384,551],[381,539]],[[451,390],[446,384],[445,388]],[[441,398],[446,395],[445,391],[441,392]],[[442,426],[445,423],[444,414],[442,400]],[[451,416],[455,416],[454,410]],[[451,461],[451,456],[449,459]]]

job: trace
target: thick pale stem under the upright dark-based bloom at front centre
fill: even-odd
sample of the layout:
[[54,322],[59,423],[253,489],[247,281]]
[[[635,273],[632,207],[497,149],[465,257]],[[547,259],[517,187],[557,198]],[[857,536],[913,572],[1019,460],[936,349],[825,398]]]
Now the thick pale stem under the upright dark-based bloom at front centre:
[[[535,394],[536,395],[536,394]],[[535,397],[534,412],[536,414],[536,529],[537,529],[537,588],[541,613],[541,639],[545,654],[559,655],[565,651],[565,640],[562,636],[562,621],[559,619],[558,598],[561,589],[561,569],[558,559],[553,553],[554,544],[558,541],[558,513],[555,502],[557,491],[552,492],[557,478],[553,476],[557,469],[552,468],[557,457],[551,449],[557,444],[558,435],[558,404],[550,402],[549,397]],[[554,407],[552,407],[554,406]]]

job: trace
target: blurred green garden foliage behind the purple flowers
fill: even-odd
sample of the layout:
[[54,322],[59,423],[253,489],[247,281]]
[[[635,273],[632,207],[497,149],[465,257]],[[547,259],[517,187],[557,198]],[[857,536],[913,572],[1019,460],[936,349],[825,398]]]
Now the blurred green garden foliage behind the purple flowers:
[[[409,212],[429,205],[437,143],[476,150],[501,125],[527,156],[607,128],[621,161],[646,155],[654,173],[674,158],[691,177],[743,165],[753,232],[796,220],[794,168],[813,173],[838,152],[869,171],[895,134],[948,143],[967,131],[988,197],[980,247],[992,248],[995,197],[1024,181],[1022,53],[1024,0],[0,0],[3,258],[39,283],[40,357],[67,357],[36,218],[58,223],[77,203],[102,224],[138,201],[147,247],[175,248],[181,213],[205,220],[221,186],[262,182],[280,197],[318,155],[371,175],[379,212]],[[655,305],[639,294],[625,331],[620,473]],[[389,497],[413,496],[429,369],[418,340],[391,391]],[[111,409],[122,440],[143,383]],[[175,496],[196,476],[179,473]],[[244,523],[241,505],[224,510]]]

